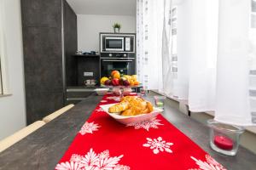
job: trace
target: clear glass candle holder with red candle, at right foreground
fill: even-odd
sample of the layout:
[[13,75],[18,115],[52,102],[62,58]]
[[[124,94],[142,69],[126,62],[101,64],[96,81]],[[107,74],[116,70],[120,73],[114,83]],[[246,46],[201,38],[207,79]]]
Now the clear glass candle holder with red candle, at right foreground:
[[216,122],[212,119],[208,120],[207,124],[210,127],[210,145],[212,150],[227,156],[235,156],[244,128]]

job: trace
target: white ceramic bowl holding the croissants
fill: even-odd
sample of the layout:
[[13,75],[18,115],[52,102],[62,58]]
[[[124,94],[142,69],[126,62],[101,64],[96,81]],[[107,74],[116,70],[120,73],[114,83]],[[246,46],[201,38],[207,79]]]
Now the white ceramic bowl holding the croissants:
[[107,112],[109,116],[112,116],[117,122],[123,123],[125,125],[131,124],[131,123],[149,121],[153,119],[155,116],[157,116],[158,114],[160,114],[161,112],[163,112],[163,110],[154,107],[154,111],[148,114],[142,114],[137,116],[119,116],[117,114],[108,112],[108,108],[111,107],[112,105],[116,105],[116,104],[100,105],[100,107],[102,108],[103,111]]

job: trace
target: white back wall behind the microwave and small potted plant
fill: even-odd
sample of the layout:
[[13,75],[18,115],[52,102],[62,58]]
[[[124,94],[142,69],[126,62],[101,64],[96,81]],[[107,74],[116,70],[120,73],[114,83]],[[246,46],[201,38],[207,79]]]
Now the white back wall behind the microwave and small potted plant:
[[135,16],[78,14],[79,50],[99,51],[99,32],[113,32],[115,22],[122,25],[120,32],[136,33]]

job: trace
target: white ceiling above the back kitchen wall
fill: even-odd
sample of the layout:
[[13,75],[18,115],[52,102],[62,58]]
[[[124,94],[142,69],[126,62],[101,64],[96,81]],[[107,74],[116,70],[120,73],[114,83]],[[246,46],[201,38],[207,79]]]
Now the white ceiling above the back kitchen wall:
[[136,15],[136,0],[67,0],[76,14]]

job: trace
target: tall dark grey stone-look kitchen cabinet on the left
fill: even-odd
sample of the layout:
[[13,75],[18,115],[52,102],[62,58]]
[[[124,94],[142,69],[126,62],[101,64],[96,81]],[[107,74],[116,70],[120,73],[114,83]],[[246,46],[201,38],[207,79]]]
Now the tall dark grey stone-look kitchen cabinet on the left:
[[65,0],[20,0],[26,122],[64,106],[66,87],[76,75],[77,16]]

